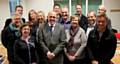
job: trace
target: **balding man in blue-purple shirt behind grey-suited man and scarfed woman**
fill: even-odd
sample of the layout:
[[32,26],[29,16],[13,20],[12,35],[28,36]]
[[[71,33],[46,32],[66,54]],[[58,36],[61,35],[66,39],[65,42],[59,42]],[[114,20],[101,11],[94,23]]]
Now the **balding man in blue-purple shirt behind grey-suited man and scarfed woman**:
[[60,19],[60,24],[62,24],[64,26],[65,29],[69,29],[70,28],[70,20],[69,20],[69,11],[67,7],[62,8],[61,10],[61,19]]

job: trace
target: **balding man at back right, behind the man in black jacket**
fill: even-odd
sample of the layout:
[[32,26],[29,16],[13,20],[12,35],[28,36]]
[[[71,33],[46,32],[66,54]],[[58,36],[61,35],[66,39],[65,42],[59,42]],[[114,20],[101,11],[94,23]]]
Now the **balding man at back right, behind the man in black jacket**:
[[[105,6],[100,5],[98,8],[98,15],[106,15],[106,11],[107,11],[107,9],[105,8]],[[111,20],[108,17],[107,17],[107,27],[109,29],[112,29]]]

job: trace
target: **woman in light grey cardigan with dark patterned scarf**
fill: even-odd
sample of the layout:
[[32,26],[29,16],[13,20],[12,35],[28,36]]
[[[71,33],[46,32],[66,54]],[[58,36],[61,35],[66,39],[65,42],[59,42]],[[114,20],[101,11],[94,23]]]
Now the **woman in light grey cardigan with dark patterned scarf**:
[[64,48],[66,61],[65,64],[85,63],[85,47],[87,43],[84,30],[79,27],[77,16],[71,17],[71,27],[66,30],[67,45]]

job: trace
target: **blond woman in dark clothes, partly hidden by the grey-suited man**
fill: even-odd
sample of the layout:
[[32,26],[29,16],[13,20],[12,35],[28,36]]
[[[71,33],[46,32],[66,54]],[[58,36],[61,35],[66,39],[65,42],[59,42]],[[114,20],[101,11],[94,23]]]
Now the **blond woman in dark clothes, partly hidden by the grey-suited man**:
[[42,56],[43,56],[43,53],[42,53],[42,50],[41,50],[41,46],[39,45],[39,42],[38,42],[38,31],[41,27],[42,24],[45,23],[45,15],[42,11],[38,11],[37,12],[37,18],[38,18],[38,21],[35,22],[32,26],[32,30],[31,30],[31,35],[34,36],[36,38],[36,49],[37,49],[37,53],[38,53],[38,57],[39,57],[39,62],[42,63],[43,62],[43,59]]

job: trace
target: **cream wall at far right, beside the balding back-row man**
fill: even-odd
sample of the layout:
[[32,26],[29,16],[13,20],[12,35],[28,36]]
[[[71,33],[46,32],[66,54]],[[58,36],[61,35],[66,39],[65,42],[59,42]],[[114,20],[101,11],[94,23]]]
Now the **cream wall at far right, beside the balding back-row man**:
[[120,32],[120,11],[111,12],[111,9],[120,9],[120,0],[103,0],[103,4],[107,8],[107,16],[111,19],[113,28]]

